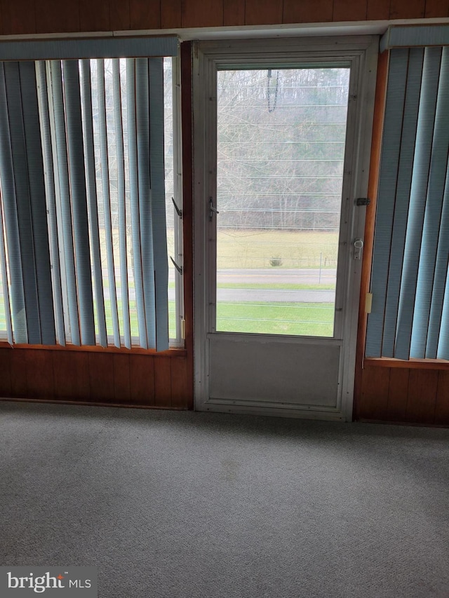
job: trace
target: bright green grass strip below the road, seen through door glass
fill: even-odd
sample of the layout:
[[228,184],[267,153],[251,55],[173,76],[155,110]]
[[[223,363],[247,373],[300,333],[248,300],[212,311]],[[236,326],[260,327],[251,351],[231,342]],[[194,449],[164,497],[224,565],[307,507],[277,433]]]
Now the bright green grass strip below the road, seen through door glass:
[[220,303],[219,332],[333,336],[333,304],[321,303]]

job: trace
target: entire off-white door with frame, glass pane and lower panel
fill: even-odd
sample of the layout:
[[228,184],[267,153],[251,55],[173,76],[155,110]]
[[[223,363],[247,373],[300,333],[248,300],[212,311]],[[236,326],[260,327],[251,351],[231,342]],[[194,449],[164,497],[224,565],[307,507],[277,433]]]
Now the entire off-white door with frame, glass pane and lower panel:
[[197,44],[196,409],[351,419],[376,62],[372,37]]

